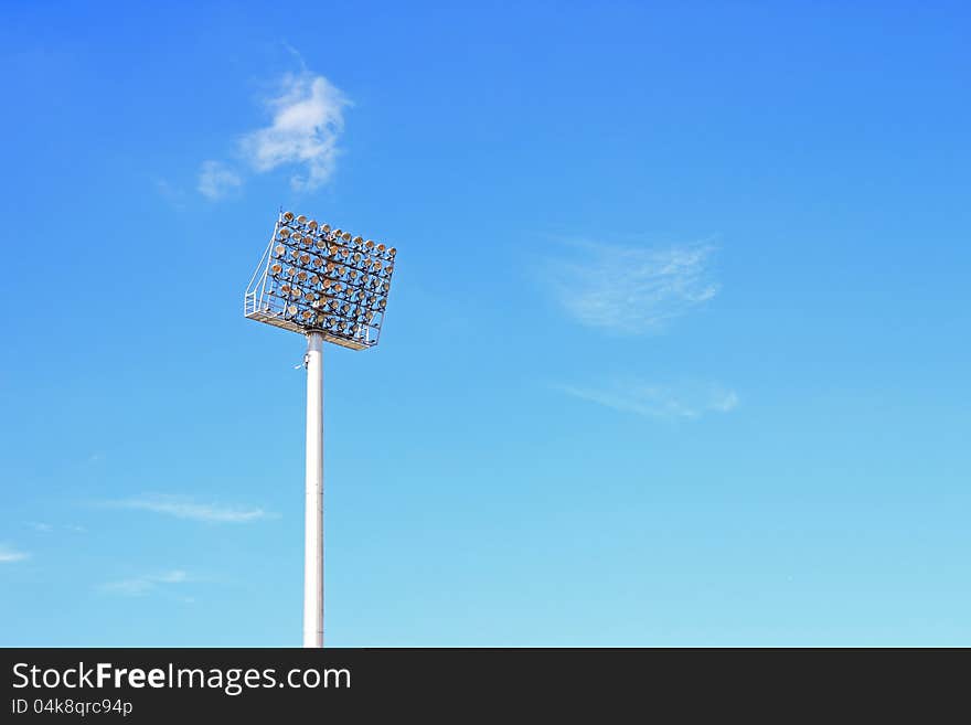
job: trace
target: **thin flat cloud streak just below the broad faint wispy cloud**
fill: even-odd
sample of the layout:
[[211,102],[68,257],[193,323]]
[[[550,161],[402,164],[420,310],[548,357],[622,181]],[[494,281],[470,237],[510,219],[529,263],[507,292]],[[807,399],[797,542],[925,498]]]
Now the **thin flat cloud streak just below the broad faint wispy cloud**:
[[671,420],[700,418],[707,413],[728,413],[738,405],[738,394],[717,383],[661,385],[636,377],[620,377],[597,385],[556,387],[567,395],[615,411]]

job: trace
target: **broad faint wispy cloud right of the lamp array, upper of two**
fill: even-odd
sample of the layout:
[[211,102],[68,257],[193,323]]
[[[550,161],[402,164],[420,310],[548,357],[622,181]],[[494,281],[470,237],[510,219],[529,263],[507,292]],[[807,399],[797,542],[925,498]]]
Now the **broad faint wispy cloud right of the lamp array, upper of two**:
[[554,292],[577,322],[622,334],[658,332],[718,292],[707,243],[630,247],[565,245],[547,264]]

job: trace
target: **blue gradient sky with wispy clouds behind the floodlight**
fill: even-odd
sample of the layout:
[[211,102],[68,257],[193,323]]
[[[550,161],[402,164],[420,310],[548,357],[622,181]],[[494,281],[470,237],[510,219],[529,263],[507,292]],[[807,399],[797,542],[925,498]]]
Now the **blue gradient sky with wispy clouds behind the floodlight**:
[[[462,3],[466,4],[466,3]],[[971,644],[961,3],[3,3],[0,644]]]

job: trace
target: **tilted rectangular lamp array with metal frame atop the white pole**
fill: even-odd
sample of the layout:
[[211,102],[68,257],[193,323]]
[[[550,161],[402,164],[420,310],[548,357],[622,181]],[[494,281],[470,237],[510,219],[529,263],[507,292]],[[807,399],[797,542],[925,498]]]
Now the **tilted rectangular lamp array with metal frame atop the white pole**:
[[[244,314],[363,350],[377,344],[396,250],[284,212],[249,281]],[[260,274],[262,273],[262,274]]]

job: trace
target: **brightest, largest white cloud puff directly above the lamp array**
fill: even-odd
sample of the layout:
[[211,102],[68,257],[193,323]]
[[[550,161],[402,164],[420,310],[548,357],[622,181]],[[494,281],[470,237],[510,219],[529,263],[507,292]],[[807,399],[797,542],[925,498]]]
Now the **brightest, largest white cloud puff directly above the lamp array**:
[[344,94],[322,75],[287,74],[266,102],[270,125],[243,137],[243,153],[259,172],[285,164],[302,167],[302,173],[290,178],[290,185],[298,191],[317,189],[334,172],[349,105]]

